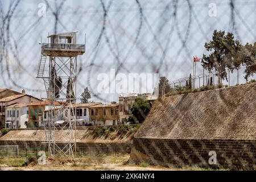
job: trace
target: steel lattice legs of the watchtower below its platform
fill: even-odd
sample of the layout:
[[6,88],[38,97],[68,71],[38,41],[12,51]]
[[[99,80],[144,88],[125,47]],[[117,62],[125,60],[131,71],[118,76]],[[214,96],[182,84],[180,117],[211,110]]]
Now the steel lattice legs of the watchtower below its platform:
[[[48,152],[51,156],[74,157],[76,151],[77,56],[59,57],[51,55],[48,57],[48,77],[43,78],[44,84],[48,84],[48,89],[46,86],[47,98],[44,98],[44,100],[49,101],[46,110],[48,111],[48,119],[43,121]],[[52,74],[51,71],[54,69],[56,72]],[[61,78],[62,86],[57,84],[57,78]],[[57,90],[59,90],[59,97],[56,96]],[[65,117],[68,110],[71,113],[69,118]]]

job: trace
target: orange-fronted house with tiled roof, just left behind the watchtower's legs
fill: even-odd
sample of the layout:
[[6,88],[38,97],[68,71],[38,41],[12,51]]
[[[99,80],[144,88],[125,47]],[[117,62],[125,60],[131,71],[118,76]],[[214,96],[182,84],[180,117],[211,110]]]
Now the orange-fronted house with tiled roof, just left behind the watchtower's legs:
[[[49,101],[34,102],[28,105],[28,127],[43,127],[43,121],[48,120],[48,113],[51,104]],[[51,111],[49,115],[57,117],[57,109],[59,109],[59,102],[55,102],[55,112]]]

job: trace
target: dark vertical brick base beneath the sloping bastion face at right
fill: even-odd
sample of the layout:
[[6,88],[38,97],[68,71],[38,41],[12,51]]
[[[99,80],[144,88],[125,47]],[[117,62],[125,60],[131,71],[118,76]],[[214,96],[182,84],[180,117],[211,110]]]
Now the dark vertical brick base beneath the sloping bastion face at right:
[[[217,164],[209,164],[209,152]],[[256,140],[135,139],[130,162],[164,166],[256,169]]]

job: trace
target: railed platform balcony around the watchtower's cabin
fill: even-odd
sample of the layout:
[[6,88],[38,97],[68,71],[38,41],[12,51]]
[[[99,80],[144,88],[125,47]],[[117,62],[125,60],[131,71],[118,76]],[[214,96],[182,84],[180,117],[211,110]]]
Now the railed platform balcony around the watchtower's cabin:
[[85,44],[46,44],[43,43],[41,47],[42,53],[56,56],[71,56],[71,55],[83,55],[85,53]]

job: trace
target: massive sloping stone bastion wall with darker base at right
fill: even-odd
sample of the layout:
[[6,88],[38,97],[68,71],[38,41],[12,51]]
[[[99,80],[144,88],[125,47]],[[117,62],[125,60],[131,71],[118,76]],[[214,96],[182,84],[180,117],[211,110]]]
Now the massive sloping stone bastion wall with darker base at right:
[[255,106],[256,84],[157,101],[134,135],[131,160],[208,167],[212,150],[218,166],[255,168]]

